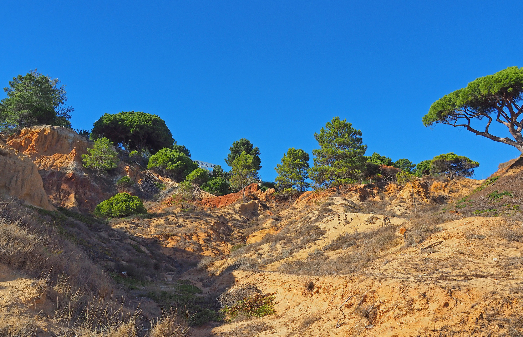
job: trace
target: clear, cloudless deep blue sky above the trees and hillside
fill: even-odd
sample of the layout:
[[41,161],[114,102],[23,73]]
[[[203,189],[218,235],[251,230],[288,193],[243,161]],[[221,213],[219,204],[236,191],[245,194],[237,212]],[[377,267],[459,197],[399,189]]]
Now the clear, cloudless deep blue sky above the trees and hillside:
[[[415,163],[455,152],[477,178],[519,152],[421,122],[477,77],[522,66],[523,2],[2,1],[0,85],[38,68],[58,77],[74,128],[104,113],[165,119],[193,159],[225,166],[234,140],[261,151],[261,175],[289,147],[311,154],[334,116],[368,154]],[[4,83],[2,85],[2,83]],[[0,98],[5,97],[1,94]],[[503,132],[502,129],[499,129]]]

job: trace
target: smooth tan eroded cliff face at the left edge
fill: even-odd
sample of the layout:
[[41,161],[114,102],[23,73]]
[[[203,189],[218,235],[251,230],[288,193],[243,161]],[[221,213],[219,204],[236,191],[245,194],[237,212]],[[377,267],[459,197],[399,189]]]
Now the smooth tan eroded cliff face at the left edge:
[[53,210],[36,165],[27,155],[0,140],[0,195],[17,197],[32,206]]

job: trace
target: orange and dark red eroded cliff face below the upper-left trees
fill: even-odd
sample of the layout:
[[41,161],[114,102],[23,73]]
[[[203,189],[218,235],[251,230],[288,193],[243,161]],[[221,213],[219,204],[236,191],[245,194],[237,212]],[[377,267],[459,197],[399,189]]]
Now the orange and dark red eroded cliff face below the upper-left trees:
[[6,143],[33,161],[54,206],[91,211],[117,192],[113,184],[84,170],[82,154],[87,153],[89,141],[71,129],[33,126]]

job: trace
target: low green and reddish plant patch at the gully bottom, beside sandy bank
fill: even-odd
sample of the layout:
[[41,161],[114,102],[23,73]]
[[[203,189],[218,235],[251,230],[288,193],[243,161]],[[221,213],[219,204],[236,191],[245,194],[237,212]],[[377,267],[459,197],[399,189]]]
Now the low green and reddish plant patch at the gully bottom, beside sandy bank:
[[220,311],[228,318],[229,321],[236,319],[238,316],[263,317],[274,315],[274,299],[276,293],[272,294],[255,294],[238,300],[231,306],[224,306]]

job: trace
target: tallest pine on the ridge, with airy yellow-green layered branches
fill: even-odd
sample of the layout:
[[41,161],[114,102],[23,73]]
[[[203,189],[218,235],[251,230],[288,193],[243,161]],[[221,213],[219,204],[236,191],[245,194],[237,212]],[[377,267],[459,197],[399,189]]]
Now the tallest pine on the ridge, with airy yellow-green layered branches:
[[315,182],[314,187],[335,187],[339,195],[339,186],[356,182],[365,162],[363,154],[367,150],[361,135],[361,131],[347,123],[347,119],[339,117],[325,124],[320,134],[314,134],[321,147],[312,150],[316,158],[309,175]]

